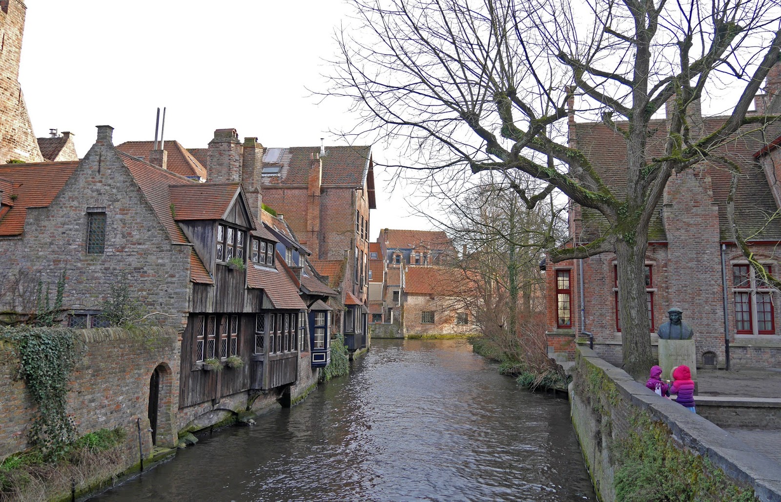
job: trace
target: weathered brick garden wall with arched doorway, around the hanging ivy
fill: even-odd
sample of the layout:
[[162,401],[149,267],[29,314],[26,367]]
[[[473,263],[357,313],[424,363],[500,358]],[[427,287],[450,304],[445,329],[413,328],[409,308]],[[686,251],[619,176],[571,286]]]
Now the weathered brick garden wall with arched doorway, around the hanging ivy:
[[[158,368],[160,383],[157,444],[173,446],[174,414],[179,402],[179,343],[172,328],[78,330],[81,357],[73,371],[68,414],[79,436],[101,428],[127,430],[127,450],[138,461],[137,418],[141,418],[144,456],[152,453],[148,431],[149,382]],[[16,378],[19,360],[11,342],[0,344],[0,457],[25,450],[35,407],[24,382]],[[132,464],[130,464],[132,465]],[[127,465],[125,467],[130,467]]]

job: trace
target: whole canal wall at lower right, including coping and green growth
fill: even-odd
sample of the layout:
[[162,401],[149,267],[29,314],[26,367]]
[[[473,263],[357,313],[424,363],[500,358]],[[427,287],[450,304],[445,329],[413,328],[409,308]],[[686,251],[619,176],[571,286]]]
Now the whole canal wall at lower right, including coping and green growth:
[[[601,500],[781,500],[781,472],[751,446],[579,346],[572,425]],[[745,500],[745,499],[741,499]]]

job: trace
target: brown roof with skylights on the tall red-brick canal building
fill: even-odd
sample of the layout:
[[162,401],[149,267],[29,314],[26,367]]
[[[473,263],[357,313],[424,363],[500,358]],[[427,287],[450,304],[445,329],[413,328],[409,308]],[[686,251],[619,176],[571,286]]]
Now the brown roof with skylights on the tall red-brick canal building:
[[[348,185],[362,187],[369,171],[371,146],[326,146],[323,160],[323,185]],[[263,163],[279,164],[278,179],[263,177],[264,183],[274,185],[307,185],[312,154],[320,152],[319,146],[296,146],[283,149],[266,149]],[[277,183],[278,182],[278,183]]]

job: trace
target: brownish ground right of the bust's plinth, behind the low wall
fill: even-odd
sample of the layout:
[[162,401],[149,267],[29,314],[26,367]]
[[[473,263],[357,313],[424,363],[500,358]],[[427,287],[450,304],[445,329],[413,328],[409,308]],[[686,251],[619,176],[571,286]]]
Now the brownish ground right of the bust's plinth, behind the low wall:
[[781,370],[697,370],[701,396],[781,397]]

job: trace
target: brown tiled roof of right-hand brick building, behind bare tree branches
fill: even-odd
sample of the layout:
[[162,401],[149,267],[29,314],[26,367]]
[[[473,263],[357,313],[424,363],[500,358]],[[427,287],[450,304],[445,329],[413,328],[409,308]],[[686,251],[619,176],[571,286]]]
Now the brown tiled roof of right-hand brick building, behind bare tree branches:
[[[704,117],[704,131],[708,134],[715,131],[729,117]],[[619,125],[626,125],[620,123]],[[626,194],[626,141],[612,129],[601,123],[575,124],[577,147],[583,152],[602,181],[608,185],[619,198]],[[651,120],[653,133],[647,142],[647,156],[650,158],[662,156],[664,138],[666,135],[665,120]],[[743,127],[735,139],[722,145],[714,152],[715,156],[724,156],[736,163],[742,172],[735,198],[736,221],[740,224],[744,235],[759,231],[769,214],[776,211],[776,203],[765,174],[754,159],[754,153],[767,143],[766,138],[775,138],[777,128],[773,131],[752,131],[755,126]],[[764,139],[763,139],[764,138]],[[726,199],[729,194],[731,174],[724,167],[715,163],[706,164],[713,186],[713,198],[719,206],[719,231],[722,240],[731,240],[729,221],[726,217]],[[662,202],[656,208],[648,230],[650,241],[665,241],[667,236],[662,224]],[[596,210],[583,208],[583,241],[597,238],[607,229],[607,221]],[[757,240],[781,239],[781,225],[768,225],[754,237]]]

